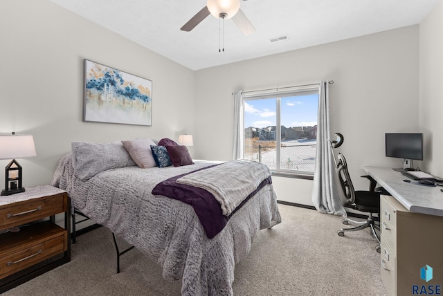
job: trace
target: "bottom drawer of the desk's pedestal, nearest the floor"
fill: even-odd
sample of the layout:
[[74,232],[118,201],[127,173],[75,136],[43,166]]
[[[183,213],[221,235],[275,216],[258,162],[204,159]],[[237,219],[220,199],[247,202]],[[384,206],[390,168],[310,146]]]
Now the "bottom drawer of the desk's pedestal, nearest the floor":
[[381,238],[381,254],[380,254],[380,270],[381,281],[389,296],[396,295],[396,270],[395,270],[395,253],[389,248],[386,241]]

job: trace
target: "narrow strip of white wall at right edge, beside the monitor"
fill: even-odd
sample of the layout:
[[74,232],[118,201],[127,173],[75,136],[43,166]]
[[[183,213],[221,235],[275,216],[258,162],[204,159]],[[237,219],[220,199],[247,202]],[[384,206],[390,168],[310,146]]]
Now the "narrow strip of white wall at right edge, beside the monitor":
[[419,26],[419,125],[426,140],[425,168],[443,177],[443,3]]

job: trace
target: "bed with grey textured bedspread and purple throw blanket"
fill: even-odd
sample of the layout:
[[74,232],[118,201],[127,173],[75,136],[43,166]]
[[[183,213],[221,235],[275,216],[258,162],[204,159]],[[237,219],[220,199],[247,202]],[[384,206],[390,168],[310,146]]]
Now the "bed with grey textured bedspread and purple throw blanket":
[[[281,221],[269,169],[248,161],[197,160],[142,168],[128,152],[121,142],[73,142],[51,185],[66,190],[76,210],[158,263],[165,279],[181,279],[182,295],[233,295],[235,264],[248,255],[259,230]],[[245,176],[257,180],[242,182]],[[196,185],[199,178],[217,185]],[[241,195],[226,188],[236,181],[249,183],[239,189],[243,199],[217,200]]]

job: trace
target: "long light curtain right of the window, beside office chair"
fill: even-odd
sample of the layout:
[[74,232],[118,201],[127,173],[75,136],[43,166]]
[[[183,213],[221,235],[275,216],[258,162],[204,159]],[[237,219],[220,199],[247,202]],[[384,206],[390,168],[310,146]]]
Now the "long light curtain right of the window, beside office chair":
[[334,156],[329,147],[329,82],[320,82],[318,98],[317,153],[312,202],[318,212],[346,216],[335,182]]

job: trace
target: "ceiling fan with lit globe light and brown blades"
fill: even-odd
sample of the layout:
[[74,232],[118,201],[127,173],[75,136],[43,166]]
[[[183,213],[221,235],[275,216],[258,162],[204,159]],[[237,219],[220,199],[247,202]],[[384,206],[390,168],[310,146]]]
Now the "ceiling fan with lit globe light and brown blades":
[[206,19],[208,15],[213,15],[217,19],[230,19],[232,17],[234,23],[246,36],[255,32],[251,21],[240,9],[240,0],[208,0],[206,6],[197,12],[197,15],[184,24],[180,30],[189,32]]

